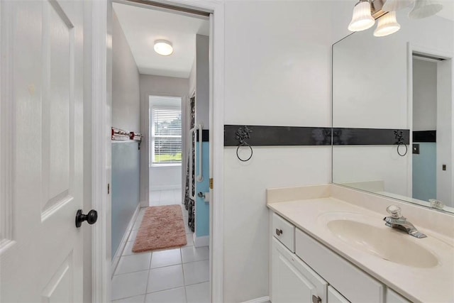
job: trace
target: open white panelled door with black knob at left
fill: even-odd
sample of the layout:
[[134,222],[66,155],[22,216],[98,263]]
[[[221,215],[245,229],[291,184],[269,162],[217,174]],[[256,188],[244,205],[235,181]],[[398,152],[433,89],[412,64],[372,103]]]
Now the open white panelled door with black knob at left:
[[0,302],[82,302],[82,1],[0,13]]

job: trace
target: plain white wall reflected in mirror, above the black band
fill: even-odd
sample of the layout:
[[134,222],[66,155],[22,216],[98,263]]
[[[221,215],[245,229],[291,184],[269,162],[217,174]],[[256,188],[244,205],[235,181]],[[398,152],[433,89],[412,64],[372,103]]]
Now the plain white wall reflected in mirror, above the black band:
[[408,128],[406,66],[406,43],[399,32],[383,40],[363,31],[337,43],[333,126]]

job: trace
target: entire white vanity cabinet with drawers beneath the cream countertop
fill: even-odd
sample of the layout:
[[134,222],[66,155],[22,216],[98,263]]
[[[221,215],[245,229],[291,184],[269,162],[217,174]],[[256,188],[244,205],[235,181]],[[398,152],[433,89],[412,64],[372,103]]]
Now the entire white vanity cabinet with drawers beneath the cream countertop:
[[[382,283],[277,214],[273,213],[270,219],[272,303],[385,302],[386,287]],[[285,228],[282,233],[281,226]],[[292,243],[282,238],[286,231],[292,236]],[[289,248],[294,248],[295,253]]]

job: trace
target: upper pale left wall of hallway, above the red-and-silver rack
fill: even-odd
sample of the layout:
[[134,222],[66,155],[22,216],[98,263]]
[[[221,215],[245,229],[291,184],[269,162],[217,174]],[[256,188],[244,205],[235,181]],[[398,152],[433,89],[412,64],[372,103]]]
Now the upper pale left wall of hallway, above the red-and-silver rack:
[[139,131],[139,72],[115,12],[112,31],[112,126]]

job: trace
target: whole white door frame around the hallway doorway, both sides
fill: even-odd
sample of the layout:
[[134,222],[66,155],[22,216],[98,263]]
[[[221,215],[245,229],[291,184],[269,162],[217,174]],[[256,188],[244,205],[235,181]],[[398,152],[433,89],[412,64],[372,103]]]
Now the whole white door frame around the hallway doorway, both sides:
[[[223,104],[224,4],[215,0],[153,0],[210,13],[210,296],[223,301]],[[112,0],[92,2],[92,205],[99,213],[92,233],[92,301],[111,300],[111,104]],[[153,2],[151,3],[153,4]],[[216,102],[214,102],[216,100]],[[216,252],[216,253],[214,253]]]

